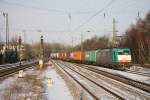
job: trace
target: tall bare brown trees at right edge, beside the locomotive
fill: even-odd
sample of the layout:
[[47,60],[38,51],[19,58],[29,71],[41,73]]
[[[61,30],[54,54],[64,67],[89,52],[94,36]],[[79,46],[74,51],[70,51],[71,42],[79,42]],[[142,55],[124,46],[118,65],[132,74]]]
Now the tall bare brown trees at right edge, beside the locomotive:
[[146,18],[132,25],[126,36],[125,45],[131,48],[134,62],[150,63],[150,12]]

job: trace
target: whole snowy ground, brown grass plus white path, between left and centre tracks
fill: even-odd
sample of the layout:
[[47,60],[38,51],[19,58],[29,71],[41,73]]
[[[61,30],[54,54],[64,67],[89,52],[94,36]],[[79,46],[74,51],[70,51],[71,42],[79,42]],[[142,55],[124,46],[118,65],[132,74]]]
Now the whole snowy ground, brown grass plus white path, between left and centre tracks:
[[73,100],[64,80],[53,66],[43,70],[36,67],[27,69],[23,76],[18,78],[18,74],[14,74],[0,80],[0,100]]

